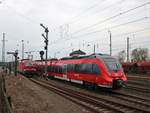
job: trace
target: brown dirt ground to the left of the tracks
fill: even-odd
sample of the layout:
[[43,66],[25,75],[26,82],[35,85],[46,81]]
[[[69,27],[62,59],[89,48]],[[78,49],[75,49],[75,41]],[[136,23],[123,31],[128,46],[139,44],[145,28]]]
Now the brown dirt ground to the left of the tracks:
[[23,76],[6,76],[14,113],[86,113],[83,107],[48,91]]

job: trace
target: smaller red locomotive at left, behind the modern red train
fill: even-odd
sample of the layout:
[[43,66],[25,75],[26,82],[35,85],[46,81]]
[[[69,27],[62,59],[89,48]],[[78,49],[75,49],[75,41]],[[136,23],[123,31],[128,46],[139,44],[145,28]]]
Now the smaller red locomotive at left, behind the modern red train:
[[36,68],[30,59],[23,59],[19,61],[18,71],[27,77],[32,77],[37,73]]

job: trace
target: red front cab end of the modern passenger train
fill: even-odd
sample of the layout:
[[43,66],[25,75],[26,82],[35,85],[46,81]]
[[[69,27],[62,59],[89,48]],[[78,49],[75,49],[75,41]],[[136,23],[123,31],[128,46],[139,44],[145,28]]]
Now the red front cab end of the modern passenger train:
[[109,55],[99,54],[97,57],[100,59],[100,62],[102,62],[104,66],[101,67],[101,69],[104,68],[105,70],[102,73],[106,80],[104,85],[110,88],[123,87],[127,82],[127,78],[119,61]]

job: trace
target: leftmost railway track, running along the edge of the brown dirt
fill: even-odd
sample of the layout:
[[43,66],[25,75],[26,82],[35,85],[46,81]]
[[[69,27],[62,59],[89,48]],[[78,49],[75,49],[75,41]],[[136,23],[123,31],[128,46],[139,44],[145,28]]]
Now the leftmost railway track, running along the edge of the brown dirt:
[[[84,97],[81,97],[81,96],[78,96],[78,95],[75,95],[74,93],[72,92],[66,92],[65,90],[63,89],[60,89],[60,88],[57,88],[56,86],[53,86],[53,85],[49,85],[49,84],[45,84],[45,83],[42,83],[40,82],[39,80],[36,80],[36,79],[30,79],[32,82],[48,89],[48,90],[51,90],[53,92],[55,92],[56,94],[78,104],[78,105],[81,105],[83,107],[85,107],[86,109],[90,110],[91,112],[95,112],[95,113],[103,113],[103,112],[106,112],[107,110],[102,108],[102,107],[93,107],[93,105],[97,105],[96,102],[93,102],[89,99],[86,99]],[[86,104],[85,104],[86,103]],[[108,112],[108,111],[107,111]],[[111,113],[112,111],[110,111]]]

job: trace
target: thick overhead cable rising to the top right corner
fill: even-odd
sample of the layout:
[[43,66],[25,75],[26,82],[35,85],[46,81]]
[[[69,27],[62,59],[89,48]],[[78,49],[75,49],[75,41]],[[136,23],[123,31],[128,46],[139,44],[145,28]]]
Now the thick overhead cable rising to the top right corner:
[[143,7],[143,6],[145,6],[145,5],[148,5],[148,4],[150,4],[150,2],[144,3],[144,4],[142,4],[142,5],[139,5],[139,6],[136,6],[136,7],[134,7],[134,8],[131,8],[131,9],[129,9],[129,10],[126,10],[126,11],[123,11],[123,12],[121,12],[121,13],[118,13],[118,14],[116,14],[116,15],[114,15],[114,16],[108,17],[108,18],[106,18],[105,20],[99,21],[99,22],[97,22],[97,23],[95,23],[95,24],[93,24],[93,25],[90,25],[90,26],[84,27],[84,28],[82,28],[82,29],[79,29],[79,30],[73,32],[72,34],[76,34],[76,33],[78,33],[78,32],[81,32],[81,31],[85,30],[85,29],[91,28],[91,27],[93,27],[93,26],[97,26],[98,24],[104,23],[104,22],[106,22],[106,21],[108,21],[108,20],[114,19],[114,18],[116,18],[116,17],[118,17],[118,16],[121,16],[121,15],[126,14],[126,13],[128,13],[128,12],[131,12],[131,11],[133,11],[133,10],[136,10],[136,9],[141,8],[141,7]]

